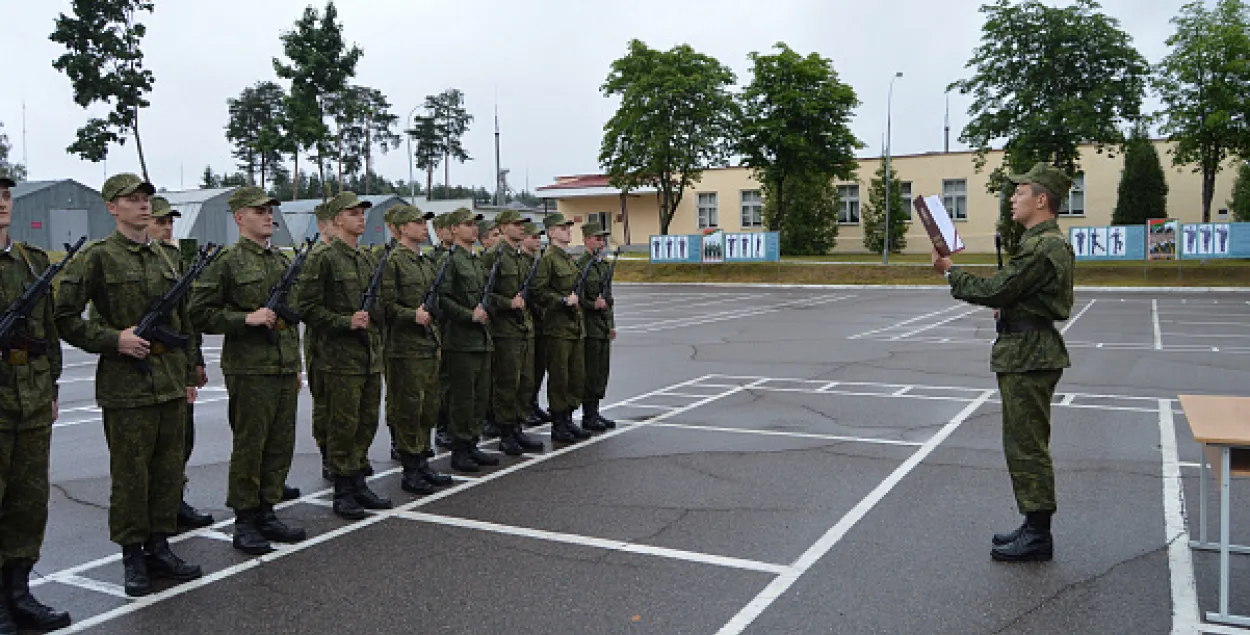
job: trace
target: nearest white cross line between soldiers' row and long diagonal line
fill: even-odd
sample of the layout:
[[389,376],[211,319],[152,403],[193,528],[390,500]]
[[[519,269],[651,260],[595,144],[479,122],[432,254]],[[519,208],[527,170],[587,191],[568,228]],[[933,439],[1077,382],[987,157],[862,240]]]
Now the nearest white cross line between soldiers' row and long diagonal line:
[[509,536],[531,538],[536,540],[546,540],[550,542],[562,542],[566,545],[588,546],[594,549],[605,549],[609,551],[621,551],[626,554],[639,554],[650,555],[659,558],[668,558],[670,560],[684,560],[688,562],[699,562],[705,565],[725,566],[730,569],[744,569],[748,571],[761,571],[765,574],[780,575],[786,571],[785,565],[776,565],[771,562],[760,562],[758,560],[744,560],[741,558],[729,558],[715,554],[701,554],[698,551],[684,551],[680,549],[666,549],[662,546],[640,545],[638,542],[626,542],[622,540],[608,540],[602,538],[582,536],[578,534],[564,534],[559,531],[546,531],[541,529],[530,528],[518,528],[512,525],[500,525],[496,522],[485,522],[481,520],[469,520],[452,516],[442,516],[436,514],[424,514],[419,511],[401,511],[395,514],[396,518],[415,520],[419,522],[432,522],[438,525],[446,525],[461,529],[474,529],[479,531],[490,531],[492,534],[502,534]]

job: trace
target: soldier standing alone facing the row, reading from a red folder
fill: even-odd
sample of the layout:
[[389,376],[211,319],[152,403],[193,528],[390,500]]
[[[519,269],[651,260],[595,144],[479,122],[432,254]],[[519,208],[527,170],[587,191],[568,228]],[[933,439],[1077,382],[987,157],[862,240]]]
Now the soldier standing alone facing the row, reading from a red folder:
[[1000,561],[1038,561],[1054,556],[1050,520],[1055,469],[1050,458],[1050,404],[1064,369],[1071,366],[1055,321],[1072,310],[1075,254],[1055,215],[1071,180],[1038,164],[1015,175],[1011,219],[1025,228],[1020,252],[994,278],[952,266],[934,251],[934,269],[946,276],[958,300],[998,309],[999,338],[990,355],[1002,398],[1002,450],[1016,506],[1025,516],[1018,529],[995,534],[990,555]]

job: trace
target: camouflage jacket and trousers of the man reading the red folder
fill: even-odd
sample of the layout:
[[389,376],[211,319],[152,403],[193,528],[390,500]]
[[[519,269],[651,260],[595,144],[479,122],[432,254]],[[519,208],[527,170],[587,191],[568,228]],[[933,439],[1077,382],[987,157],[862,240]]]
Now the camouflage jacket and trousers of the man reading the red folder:
[[1002,449],[1021,514],[1056,510],[1050,402],[1071,360],[1054,321],[1071,312],[1074,262],[1071,245],[1051,219],[1024,232],[1020,252],[994,278],[950,270],[954,298],[1000,310],[1002,332],[990,368],[999,379]]

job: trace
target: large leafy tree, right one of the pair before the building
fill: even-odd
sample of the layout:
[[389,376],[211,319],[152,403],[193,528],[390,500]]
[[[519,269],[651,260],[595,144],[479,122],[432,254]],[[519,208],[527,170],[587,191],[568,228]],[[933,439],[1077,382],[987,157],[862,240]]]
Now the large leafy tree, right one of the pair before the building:
[[741,96],[738,152],[775,199],[769,229],[776,231],[789,210],[785,181],[794,175],[849,180],[864,144],[850,130],[859,99],[838,80],[832,61],[815,52],[804,58],[784,42],[774,48],[774,55],[750,54],[754,78]]

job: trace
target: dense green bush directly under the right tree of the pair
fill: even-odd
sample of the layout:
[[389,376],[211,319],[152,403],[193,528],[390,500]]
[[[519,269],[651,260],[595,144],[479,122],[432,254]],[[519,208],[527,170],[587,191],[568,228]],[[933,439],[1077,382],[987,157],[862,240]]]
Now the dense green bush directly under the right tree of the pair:
[[[780,221],[781,254],[788,256],[822,256],[838,244],[838,188],[821,176],[796,174],[786,179],[785,200],[790,209]],[[779,196],[764,198],[764,219],[778,214]]]

